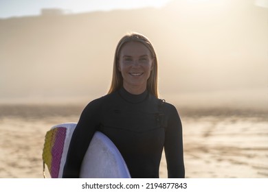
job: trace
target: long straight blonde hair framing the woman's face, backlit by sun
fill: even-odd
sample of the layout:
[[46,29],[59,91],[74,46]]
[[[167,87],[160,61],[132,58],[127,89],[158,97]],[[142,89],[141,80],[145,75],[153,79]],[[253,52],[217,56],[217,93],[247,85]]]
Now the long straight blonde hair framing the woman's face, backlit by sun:
[[125,43],[128,42],[139,42],[145,45],[149,51],[150,54],[153,58],[153,70],[150,72],[150,77],[147,80],[147,91],[155,95],[155,97],[158,98],[158,90],[157,90],[157,56],[155,53],[155,49],[153,49],[152,43],[150,43],[150,40],[146,38],[146,36],[143,36],[142,34],[138,33],[131,33],[131,34],[126,34],[121,38],[121,40],[118,43],[118,46],[115,49],[115,57],[113,60],[113,77],[111,80],[111,86],[109,88],[108,94],[113,93],[115,91],[118,91],[120,88],[123,86],[123,77],[121,72],[118,69],[118,64],[119,64],[119,58],[120,58],[120,51],[122,46]]

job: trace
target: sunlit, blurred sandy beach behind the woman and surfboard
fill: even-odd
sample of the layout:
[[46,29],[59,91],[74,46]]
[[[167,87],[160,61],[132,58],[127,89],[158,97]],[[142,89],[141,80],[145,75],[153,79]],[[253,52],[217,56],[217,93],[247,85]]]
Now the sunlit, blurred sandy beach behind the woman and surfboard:
[[[0,106],[0,178],[43,178],[42,150],[53,125],[76,122],[83,106]],[[268,178],[263,110],[179,109],[186,178]],[[164,155],[160,177],[166,178]]]

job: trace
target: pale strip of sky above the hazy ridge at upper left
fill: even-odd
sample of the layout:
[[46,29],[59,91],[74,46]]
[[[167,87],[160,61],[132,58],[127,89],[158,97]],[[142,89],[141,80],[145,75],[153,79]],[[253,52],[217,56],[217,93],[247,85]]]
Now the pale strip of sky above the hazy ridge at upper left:
[[60,8],[68,12],[161,7],[170,0],[0,0],[0,18],[38,15],[42,8]]

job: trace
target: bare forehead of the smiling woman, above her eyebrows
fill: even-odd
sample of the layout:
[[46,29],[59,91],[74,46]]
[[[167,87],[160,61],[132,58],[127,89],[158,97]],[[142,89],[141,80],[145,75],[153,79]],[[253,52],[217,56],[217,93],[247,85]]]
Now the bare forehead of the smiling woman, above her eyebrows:
[[120,56],[150,56],[150,50],[140,42],[130,41],[124,43],[120,50]]

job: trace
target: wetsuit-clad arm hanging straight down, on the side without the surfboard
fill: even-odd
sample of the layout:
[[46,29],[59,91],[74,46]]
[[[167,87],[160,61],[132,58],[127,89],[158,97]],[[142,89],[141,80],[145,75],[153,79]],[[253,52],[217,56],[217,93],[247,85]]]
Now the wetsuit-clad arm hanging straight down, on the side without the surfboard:
[[165,136],[165,154],[168,166],[168,178],[184,178],[183,135],[181,119],[176,108],[168,104],[168,127]]

